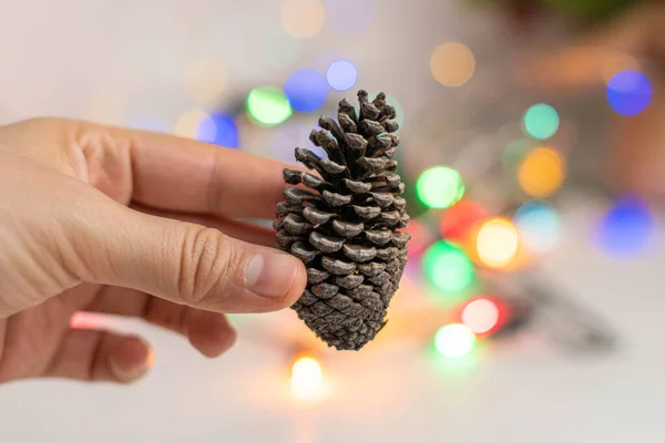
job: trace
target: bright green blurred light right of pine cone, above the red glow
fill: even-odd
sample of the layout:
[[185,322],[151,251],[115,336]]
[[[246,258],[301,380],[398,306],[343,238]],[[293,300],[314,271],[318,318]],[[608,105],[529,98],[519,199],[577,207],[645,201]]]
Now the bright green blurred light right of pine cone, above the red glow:
[[447,208],[464,195],[460,174],[448,166],[434,166],[424,171],[416,182],[418,199],[430,208]]

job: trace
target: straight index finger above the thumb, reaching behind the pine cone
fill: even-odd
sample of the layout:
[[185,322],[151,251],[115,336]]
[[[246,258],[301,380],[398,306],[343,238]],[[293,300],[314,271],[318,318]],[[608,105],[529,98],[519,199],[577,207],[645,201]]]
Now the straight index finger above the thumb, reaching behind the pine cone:
[[165,134],[116,131],[131,146],[135,202],[226,218],[274,218],[288,165]]

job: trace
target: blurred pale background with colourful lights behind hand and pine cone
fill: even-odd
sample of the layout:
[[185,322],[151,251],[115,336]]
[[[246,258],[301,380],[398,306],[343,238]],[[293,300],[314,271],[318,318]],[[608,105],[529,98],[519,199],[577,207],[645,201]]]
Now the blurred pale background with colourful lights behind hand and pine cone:
[[147,337],[153,371],[4,385],[0,441],[665,437],[662,2],[6,3],[3,124],[84,119],[294,163],[318,115],[385,92],[412,240],[359,353],[291,311],[232,316],[239,341],[214,361],[81,315]]

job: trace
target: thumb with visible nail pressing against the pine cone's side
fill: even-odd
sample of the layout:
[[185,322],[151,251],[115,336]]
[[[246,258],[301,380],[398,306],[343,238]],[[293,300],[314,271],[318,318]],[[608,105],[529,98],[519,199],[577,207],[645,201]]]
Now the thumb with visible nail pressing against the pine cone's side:
[[305,289],[305,267],[288,254],[101,200],[70,224],[84,281],[218,312],[286,308]]

